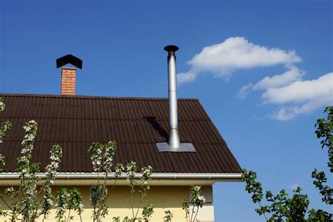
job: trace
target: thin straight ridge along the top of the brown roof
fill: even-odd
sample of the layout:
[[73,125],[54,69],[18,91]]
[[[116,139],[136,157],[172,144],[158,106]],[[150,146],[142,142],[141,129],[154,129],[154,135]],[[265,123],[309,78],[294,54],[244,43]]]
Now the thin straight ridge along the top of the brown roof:
[[[121,97],[121,96],[64,96],[52,94],[29,94],[29,93],[0,93],[0,96],[24,96],[24,97],[41,97],[41,98],[86,98],[86,99],[119,99],[119,100],[168,100],[169,98],[157,97]],[[199,100],[198,98],[178,98],[178,100]]]

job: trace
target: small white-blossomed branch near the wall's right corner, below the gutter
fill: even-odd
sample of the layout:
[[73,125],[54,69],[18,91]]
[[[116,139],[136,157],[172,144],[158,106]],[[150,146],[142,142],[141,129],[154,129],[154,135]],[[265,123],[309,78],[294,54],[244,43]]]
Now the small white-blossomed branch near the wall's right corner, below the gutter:
[[[192,204],[192,209],[190,210],[190,205],[188,200],[184,200],[182,203],[183,210],[185,211],[185,218],[189,221],[195,221],[197,218],[197,213],[199,208],[204,206],[206,199],[201,194],[201,186],[200,185],[191,185],[190,186],[190,196]],[[191,214],[191,215],[190,215]]]

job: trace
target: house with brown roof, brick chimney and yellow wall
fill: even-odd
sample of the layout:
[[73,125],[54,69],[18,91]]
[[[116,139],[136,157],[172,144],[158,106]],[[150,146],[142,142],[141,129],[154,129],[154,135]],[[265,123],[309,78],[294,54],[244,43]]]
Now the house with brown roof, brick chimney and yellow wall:
[[[152,166],[151,189],[141,206],[148,203],[155,206],[152,221],[163,221],[166,210],[174,214],[173,221],[186,221],[181,203],[188,199],[190,185],[201,185],[207,202],[197,219],[214,221],[212,185],[240,181],[242,169],[200,101],[176,100],[179,141],[190,144],[194,150],[161,150],[158,144],[169,142],[169,98],[76,96],[71,87],[74,82],[75,89],[74,75],[74,67],[63,67],[62,84],[67,89],[62,90],[62,95],[0,94],[6,103],[6,110],[0,112],[0,122],[8,120],[13,124],[4,143],[0,144],[0,153],[6,158],[4,173],[0,174],[0,194],[6,198],[4,189],[20,183],[15,169],[22,149],[22,126],[34,119],[38,130],[32,162],[40,163],[43,180],[52,145],[63,148],[53,192],[60,187],[79,188],[83,194],[83,221],[91,221],[89,187],[97,183],[87,151],[95,141],[112,140],[117,141],[114,163],[126,165],[133,161],[138,169]],[[140,171],[136,178],[139,176]],[[107,185],[112,186],[114,181],[114,176],[110,175]],[[114,216],[131,216],[131,198],[126,185],[126,175],[123,175],[107,201],[110,212],[104,221],[112,221]],[[8,209],[4,203],[1,205],[4,210]],[[74,221],[79,221],[73,215]],[[55,209],[49,218],[55,221]]]

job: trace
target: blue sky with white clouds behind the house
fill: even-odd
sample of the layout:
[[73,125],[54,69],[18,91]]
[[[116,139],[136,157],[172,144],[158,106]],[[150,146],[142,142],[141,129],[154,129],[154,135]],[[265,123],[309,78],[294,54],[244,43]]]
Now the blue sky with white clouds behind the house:
[[[178,96],[200,99],[240,165],[329,210],[311,171],[327,169],[314,124],[333,103],[332,27],[332,1],[0,1],[0,92],[59,94],[55,59],[72,53],[78,95],[166,97],[176,44],[195,75]],[[263,221],[243,183],[214,198],[216,221]]]

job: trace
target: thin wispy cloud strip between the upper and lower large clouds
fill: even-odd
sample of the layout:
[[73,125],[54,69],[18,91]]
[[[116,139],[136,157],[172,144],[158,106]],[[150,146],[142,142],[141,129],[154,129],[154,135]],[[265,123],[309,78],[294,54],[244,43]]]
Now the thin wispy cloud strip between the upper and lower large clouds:
[[282,74],[276,74],[273,77],[265,77],[256,84],[247,84],[246,86],[243,86],[237,96],[239,98],[245,98],[251,91],[286,86],[294,81],[301,80],[304,74],[305,72],[303,70],[299,70],[299,68],[293,65],[289,67],[289,70]]

